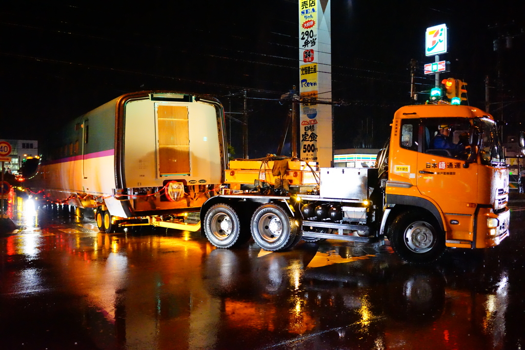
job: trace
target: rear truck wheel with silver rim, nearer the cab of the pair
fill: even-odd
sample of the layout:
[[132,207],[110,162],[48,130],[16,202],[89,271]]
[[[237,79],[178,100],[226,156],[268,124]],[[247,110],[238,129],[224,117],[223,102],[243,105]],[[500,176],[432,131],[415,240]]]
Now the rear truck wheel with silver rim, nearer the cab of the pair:
[[275,204],[264,204],[255,210],[250,226],[251,236],[264,250],[286,250],[300,239],[300,231],[293,218]]

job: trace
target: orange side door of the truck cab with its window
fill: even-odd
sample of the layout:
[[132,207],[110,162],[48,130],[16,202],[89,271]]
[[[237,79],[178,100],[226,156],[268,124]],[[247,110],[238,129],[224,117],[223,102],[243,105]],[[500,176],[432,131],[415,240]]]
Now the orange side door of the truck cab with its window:
[[[451,126],[450,140],[459,132],[468,131],[465,118],[424,118],[419,125],[419,152],[417,156],[416,182],[419,192],[433,199],[444,214],[472,215],[477,201],[478,165],[466,164],[466,155],[450,150],[430,149],[431,140],[438,126]],[[468,205],[468,206],[467,206]]]

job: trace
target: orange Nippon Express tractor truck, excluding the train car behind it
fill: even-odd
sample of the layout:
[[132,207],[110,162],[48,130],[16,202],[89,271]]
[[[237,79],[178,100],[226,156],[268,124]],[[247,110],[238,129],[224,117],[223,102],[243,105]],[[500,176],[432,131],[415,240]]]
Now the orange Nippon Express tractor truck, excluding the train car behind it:
[[[448,141],[437,136],[446,133]],[[219,248],[250,237],[270,251],[301,239],[388,239],[403,260],[429,263],[446,247],[487,248],[508,237],[508,178],[491,115],[466,105],[408,105],[394,114],[373,168],[231,161],[228,188],[203,205],[201,225]]]

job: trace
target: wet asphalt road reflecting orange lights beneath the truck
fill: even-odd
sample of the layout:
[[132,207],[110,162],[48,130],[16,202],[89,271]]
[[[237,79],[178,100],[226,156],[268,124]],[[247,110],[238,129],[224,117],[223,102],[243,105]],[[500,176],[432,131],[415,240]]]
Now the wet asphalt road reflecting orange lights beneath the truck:
[[102,234],[20,210],[0,238],[0,348],[525,348],[525,200],[511,205],[499,247],[428,268],[388,246],[222,250],[199,233]]

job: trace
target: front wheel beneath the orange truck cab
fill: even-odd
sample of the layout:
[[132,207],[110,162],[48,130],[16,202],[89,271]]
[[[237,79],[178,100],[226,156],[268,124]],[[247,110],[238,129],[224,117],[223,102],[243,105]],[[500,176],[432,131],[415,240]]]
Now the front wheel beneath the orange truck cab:
[[445,252],[444,232],[433,218],[421,212],[407,211],[398,215],[388,231],[392,248],[407,262],[428,264]]

